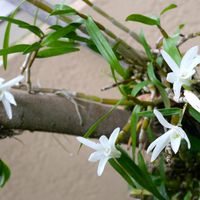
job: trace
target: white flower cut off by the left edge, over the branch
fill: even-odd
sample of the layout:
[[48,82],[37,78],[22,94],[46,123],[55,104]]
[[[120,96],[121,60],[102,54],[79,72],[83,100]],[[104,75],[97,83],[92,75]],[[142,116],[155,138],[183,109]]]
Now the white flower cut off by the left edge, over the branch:
[[3,78],[0,78],[0,101],[2,101],[9,119],[12,119],[12,109],[10,104],[17,105],[14,96],[9,92],[9,89],[22,81],[23,78],[24,76],[20,75],[7,82],[5,82]]

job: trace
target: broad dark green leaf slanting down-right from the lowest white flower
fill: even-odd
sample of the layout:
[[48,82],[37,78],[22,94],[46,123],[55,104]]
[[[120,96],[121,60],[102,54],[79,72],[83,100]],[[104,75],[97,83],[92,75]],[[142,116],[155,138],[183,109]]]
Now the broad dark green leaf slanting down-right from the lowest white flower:
[[146,177],[143,170],[141,170],[134,161],[129,157],[129,155],[120,147],[117,146],[118,150],[121,152],[120,158],[116,160],[124,168],[125,171],[144,189],[150,191],[160,200],[165,200],[165,198],[157,190],[154,182],[150,177]]

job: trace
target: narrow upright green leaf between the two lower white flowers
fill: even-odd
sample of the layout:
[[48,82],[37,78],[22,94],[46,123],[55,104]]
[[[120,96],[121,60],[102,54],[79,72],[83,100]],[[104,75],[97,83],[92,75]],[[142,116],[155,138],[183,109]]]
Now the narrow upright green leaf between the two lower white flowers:
[[135,149],[137,144],[137,123],[138,123],[138,112],[140,112],[141,107],[136,105],[131,114],[131,140],[132,140],[132,157],[135,160]]

